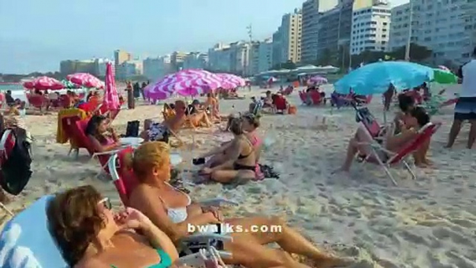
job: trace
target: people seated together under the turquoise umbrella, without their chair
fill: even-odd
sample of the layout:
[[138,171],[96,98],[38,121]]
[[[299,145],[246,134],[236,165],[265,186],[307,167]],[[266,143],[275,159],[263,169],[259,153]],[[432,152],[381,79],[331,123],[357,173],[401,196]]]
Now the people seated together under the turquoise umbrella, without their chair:
[[[396,114],[393,121],[394,127],[382,129],[380,137],[372,137],[363,124],[359,125],[357,132],[348,144],[346,160],[341,167],[342,171],[350,171],[350,166],[357,154],[361,159],[377,162],[377,156],[372,155],[373,150],[371,148],[374,140],[382,141],[384,149],[396,153],[398,149],[406,146],[409,142],[413,142],[420,128],[430,123],[430,115],[428,115],[425,108],[415,106],[413,97],[400,94],[398,96],[398,106],[400,112]],[[431,162],[427,159],[429,147],[430,140],[426,140],[414,152],[416,166],[426,167],[431,165]],[[381,155],[378,157],[384,162],[391,157],[384,151],[379,151],[379,153]]]

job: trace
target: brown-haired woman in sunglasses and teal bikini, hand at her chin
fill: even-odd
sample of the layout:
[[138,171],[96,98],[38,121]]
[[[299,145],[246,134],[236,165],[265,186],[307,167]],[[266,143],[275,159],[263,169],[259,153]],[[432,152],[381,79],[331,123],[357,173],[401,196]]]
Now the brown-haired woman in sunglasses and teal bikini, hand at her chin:
[[69,267],[171,267],[178,260],[173,242],[142,212],[112,212],[91,185],[56,194],[46,214]]

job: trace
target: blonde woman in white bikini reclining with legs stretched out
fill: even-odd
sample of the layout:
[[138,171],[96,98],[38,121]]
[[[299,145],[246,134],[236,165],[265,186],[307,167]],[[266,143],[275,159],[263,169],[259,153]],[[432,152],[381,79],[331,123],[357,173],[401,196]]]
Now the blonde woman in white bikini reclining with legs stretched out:
[[[278,217],[223,219],[219,210],[192,203],[190,196],[169,184],[169,146],[163,142],[142,144],[130,155],[130,159],[126,160],[126,164],[133,168],[139,181],[139,185],[130,194],[130,206],[144,213],[173,242],[190,235],[187,229],[190,225],[210,225],[210,228],[214,228],[215,224],[223,223],[229,224],[228,226],[241,226],[244,230],[252,230],[251,226],[280,226],[279,232],[228,233],[233,240],[225,242],[224,250],[230,251],[232,258],[225,259],[225,263],[248,268],[306,267],[289,255],[296,253],[314,260],[315,267],[339,267],[348,264],[348,260],[317,249]],[[222,234],[225,233],[226,231],[222,230]],[[278,243],[282,250],[266,246],[273,242]]]

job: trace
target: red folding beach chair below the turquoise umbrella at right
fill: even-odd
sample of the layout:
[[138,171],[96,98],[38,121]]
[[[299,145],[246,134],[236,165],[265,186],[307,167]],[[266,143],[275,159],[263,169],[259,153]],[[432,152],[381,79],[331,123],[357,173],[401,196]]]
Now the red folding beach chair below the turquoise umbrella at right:
[[[371,144],[361,142],[359,144],[371,146],[371,153],[369,153],[368,156],[364,158],[363,162],[364,163],[373,162],[377,165],[380,165],[380,167],[384,169],[386,175],[392,181],[393,185],[397,186],[398,184],[395,178],[393,178],[393,175],[390,172],[390,168],[398,164],[403,164],[405,168],[411,174],[411,178],[415,180],[416,175],[405,159],[411,156],[411,153],[414,153],[414,151],[418,150],[420,146],[423,144],[423,142],[426,142],[427,140],[429,140],[432,137],[432,135],[436,133],[436,131],[438,131],[438,128],[440,126],[441,124],[433,124],[431,122],[426,124],[425,126],[423,126],[423,128],[420,128],[420,131],[418,131],[418,135],[413,141],[403,146],[397,152],[389,151],[377,142],[373,142]],[[368,131],[366,133],[371,137],[371,133],[368,133]],[[386,155],[388,159],[382,160],[382,158],[380,157],[381,153]]]

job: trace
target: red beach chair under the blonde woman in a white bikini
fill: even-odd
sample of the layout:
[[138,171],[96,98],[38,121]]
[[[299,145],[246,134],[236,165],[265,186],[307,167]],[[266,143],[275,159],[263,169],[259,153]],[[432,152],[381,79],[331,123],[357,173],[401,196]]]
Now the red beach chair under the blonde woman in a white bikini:
[[[114,153],[112,156],[110,156],[108,160],[108,169],[110,171],[112,181],[114,183],[114,186],[116,187],[117,192],[119,193],[119,197],[121,198],[122,203],[124,203],[124,206],[128,206],[128,198],[130,194],[132,193],[134,188],[139,185],[139,182],[137,181],[133,170],[128,169],[124,166],[124,158],[128,153],[132,152],[132,148],[123,149],[118,153]],[[200,201],[198,203],[204,207],[219,207],[223,205],[238,206],[237,202],[223,198],[208,199]],[[189,235],[188,237],[180,240],[180,244],[183,253],[186,253],[188,255],[195,253],[194,249],[203,248],[204,246],[209,247],[210,245],[213,245],[218,249],[223,249],[223,243],[228,241],[232,241],[232,237],[219,234],[198,233],[195,235]],[[228,252],[219,252],[220,256],[222,256],[223,258],[230,258],[231,256],[231,254]]]

